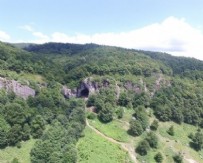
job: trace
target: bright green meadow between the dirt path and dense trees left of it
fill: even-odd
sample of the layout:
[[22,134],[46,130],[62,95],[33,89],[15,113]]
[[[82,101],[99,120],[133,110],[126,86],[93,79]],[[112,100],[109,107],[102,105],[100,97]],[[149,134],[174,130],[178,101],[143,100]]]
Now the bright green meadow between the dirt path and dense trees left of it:
[[78,163],[129,163],[128,154],[86,127],[85,137],[77,144]]

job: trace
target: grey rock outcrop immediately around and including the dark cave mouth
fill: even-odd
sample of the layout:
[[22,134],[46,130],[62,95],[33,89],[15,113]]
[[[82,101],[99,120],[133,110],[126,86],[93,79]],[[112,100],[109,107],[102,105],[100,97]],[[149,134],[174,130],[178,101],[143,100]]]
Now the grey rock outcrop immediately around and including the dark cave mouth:
[[77,89],[69,89],[66,86],[62,88],[62,94],[66,98],[71,97],[88,97],[90,94],[98,92],[99,89],[109,86],[108,80],[103,80],[102,83],[98,83],[92,80],[92,78],[86,78],[81,82],[80,86]]

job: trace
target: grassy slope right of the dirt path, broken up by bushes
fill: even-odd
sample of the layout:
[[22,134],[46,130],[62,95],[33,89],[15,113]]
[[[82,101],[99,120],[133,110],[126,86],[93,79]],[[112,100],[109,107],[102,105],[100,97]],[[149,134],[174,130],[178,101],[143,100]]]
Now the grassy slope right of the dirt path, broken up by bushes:
[[[133,110],[126,110],[124,117],[121,120],[113,120],[108,124],[103,124],[98,119],[89,122],[108,137],[112,137],[122,142],[130,142],[136,147],[139,141],[145,138],[147,132],[144,132],[139,137],[132,137],[127,134],[126,122],[131,119],[132,113]],[[150,122],[152,122],[155,117],[152,115],[149,118]],[[174,136],[170,136],[167,133],[167,130],[171,125],[174,126]],[[164,163],[173,162],[173,156],[179,152],[182,153],[184,157],[184,163],[188,163],[186,159],[195,160],[198,163],[203,162],[203,159],[201,159],[201,157],[203,158],[203,150],[197,152],[189,146],[191,140],[188,138],[188,135],[190,133],[195,133],[196,131],[197,127],[185,123],[179,125],[174,122],[159,122],[159,128],[156,131],[156,135],[159,138],[158,148],[150,149],[146,156],[137,154],[138,162],[153,163],[155,162],[154,156],[158,152],[162,153]]]

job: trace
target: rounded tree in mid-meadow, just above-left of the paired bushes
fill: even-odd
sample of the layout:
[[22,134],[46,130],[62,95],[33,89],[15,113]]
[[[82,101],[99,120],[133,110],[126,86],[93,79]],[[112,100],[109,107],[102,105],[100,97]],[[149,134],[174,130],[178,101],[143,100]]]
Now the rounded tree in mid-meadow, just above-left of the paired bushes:
[[143,128],[142,125],[139,121],[137,120],[131,120],[130,121],[130,128],[129,128],[129,133],[133,136],[139,136],[143,133]]

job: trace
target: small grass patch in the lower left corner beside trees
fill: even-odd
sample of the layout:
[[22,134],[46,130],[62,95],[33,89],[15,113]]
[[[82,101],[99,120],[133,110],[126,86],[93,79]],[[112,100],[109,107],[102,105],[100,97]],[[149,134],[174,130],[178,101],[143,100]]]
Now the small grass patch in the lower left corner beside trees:
[[17,158],[20,163],[30,163],[30,150],[36,140],[31,139],[22,142],[22,147],[7,147],[0,150],[0,163],[10,163],[14,158]]

